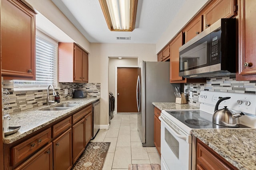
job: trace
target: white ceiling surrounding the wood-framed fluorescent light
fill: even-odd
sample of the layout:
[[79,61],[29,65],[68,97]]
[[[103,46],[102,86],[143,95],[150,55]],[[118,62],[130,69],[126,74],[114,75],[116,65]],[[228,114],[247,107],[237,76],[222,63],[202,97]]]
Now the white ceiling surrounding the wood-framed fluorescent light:
[[[138,0],[135,29],[110,31],[98,0],[52,0],[91,43],[152,43],[166,31],[186,0]],[[131,37],[116,40],[116,37]]]

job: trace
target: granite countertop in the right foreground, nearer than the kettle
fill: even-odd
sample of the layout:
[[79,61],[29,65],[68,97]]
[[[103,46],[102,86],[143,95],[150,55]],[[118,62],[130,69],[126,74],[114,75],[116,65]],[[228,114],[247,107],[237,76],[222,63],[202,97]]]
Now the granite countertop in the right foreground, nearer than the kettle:
[[192,134],[239,170],[256,170],[256,129],[193,129]]

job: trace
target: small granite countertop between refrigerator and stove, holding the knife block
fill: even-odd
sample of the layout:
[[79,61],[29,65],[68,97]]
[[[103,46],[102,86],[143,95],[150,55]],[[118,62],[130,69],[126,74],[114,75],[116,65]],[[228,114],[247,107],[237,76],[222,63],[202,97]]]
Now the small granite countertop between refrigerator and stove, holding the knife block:
[[160,110],[169,110],[169,109],[199,109],[199,107],[192,106],[189,104],[176,104],[175,102],[153,102],[154,106],[156,106]]

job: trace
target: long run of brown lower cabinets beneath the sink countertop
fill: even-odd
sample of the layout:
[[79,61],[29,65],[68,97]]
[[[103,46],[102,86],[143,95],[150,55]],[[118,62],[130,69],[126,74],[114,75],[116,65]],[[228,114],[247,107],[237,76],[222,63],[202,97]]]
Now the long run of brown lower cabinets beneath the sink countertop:
[[4,144],[5,170],[70,170],[92,138],[92,105]]

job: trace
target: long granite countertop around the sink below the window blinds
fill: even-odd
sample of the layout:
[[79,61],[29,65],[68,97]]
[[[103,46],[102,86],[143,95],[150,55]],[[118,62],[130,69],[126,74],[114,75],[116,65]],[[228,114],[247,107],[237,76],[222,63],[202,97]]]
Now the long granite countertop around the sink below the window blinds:
[[[37,131],[38,129],[41,129],[42,127],[45,127],[46,125],[49,125],[54,121],[57,121],[62,117],[65,117],[66,115],[69,115],[74,111],[77,111],[82,107],[88,104],[91,104],[99,99],[100,97],[76,98],[76,99],[65,100],[64,102],[53,104],[51,106],[40,106],[32,109],[26,109],[24,111],[17,112],[17,113],[11,113],[9,126],[21,126],[21,128],[18,132],[4,137],[3,142],[5,144],[13,143],[21,139],[22,137],[25,137],[26,135],[29,135],[30,133],[33,133],[34,131]],[[76,103],[79,105],[70,107],[69,109],[66,109],[66,110],[60,110],[60,111],[40,110],[40,109],[45,109],[49,107],[54,107],[56,105],[64,104],[64,103]]]

